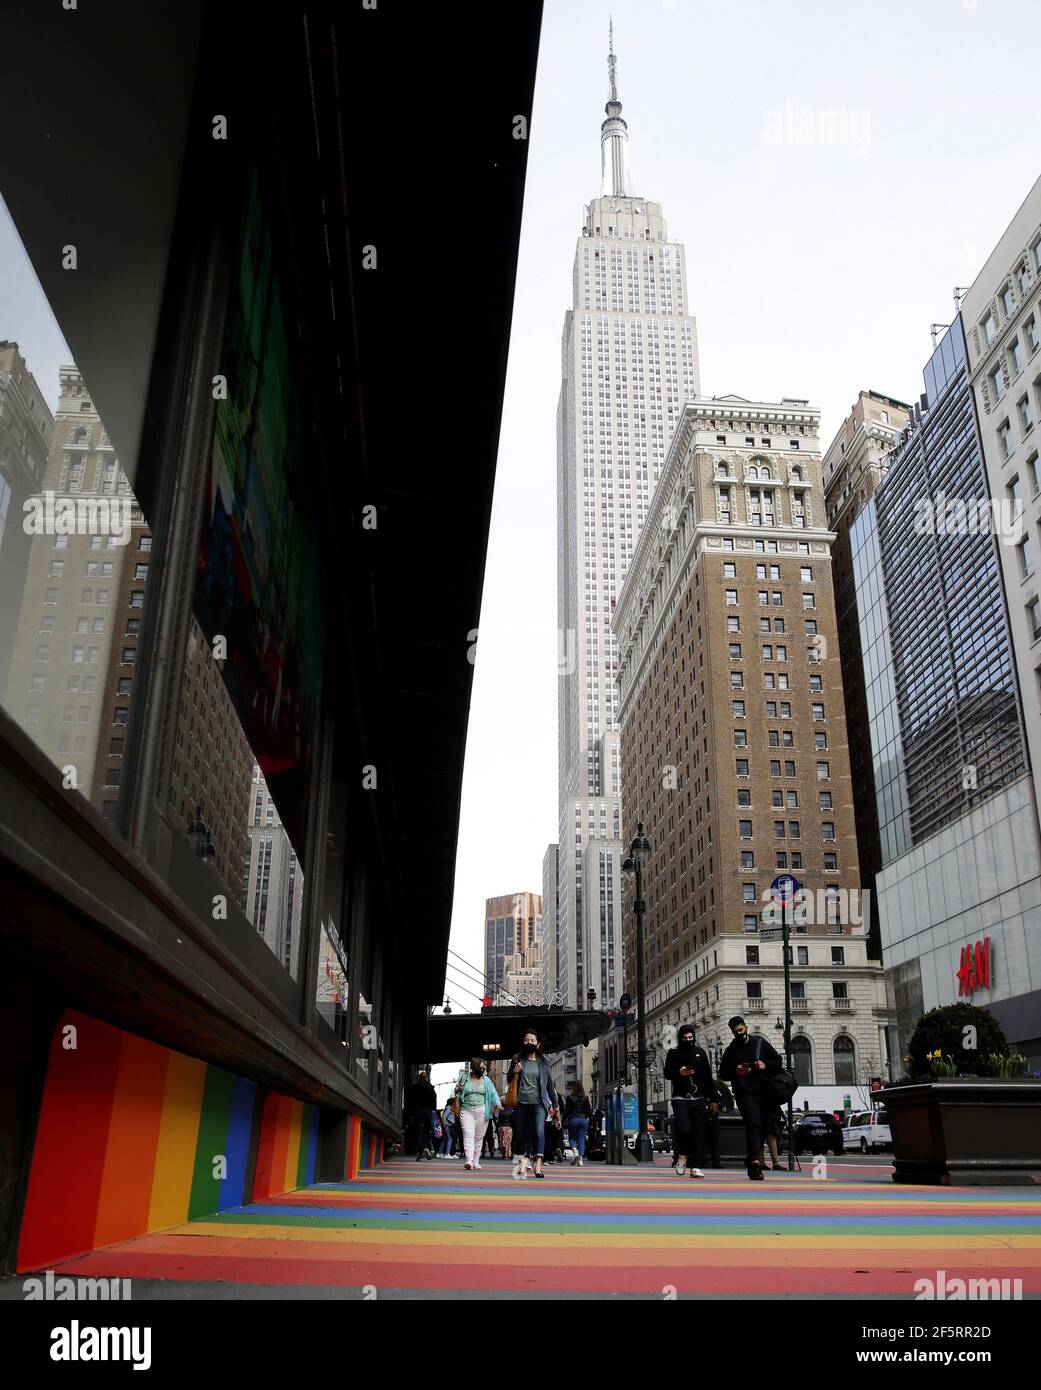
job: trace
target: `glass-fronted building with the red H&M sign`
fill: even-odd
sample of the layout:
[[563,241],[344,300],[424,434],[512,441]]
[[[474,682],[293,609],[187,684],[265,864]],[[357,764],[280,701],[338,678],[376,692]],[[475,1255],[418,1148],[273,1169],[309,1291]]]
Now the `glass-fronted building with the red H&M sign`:
[[1019,1002],[1041,983],[1037,809],[960,320],[924,385],[851,530],[883,959],[903,1051],[921,1012],[958,999],[963,948],[990,940],[973,1002],[1037,1056]]

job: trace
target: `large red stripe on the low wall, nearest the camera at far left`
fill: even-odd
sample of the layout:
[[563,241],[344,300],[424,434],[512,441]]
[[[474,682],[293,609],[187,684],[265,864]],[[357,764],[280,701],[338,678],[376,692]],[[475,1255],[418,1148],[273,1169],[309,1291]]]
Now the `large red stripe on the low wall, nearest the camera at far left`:
[[[69,1026],[76,1029],[75,1048],[63,1047]],[[120,1042],[118,1029],[83,1013],[64,1013],[54,1030],[18,1243],[19,1270],[51,1265],[95,1243]]]

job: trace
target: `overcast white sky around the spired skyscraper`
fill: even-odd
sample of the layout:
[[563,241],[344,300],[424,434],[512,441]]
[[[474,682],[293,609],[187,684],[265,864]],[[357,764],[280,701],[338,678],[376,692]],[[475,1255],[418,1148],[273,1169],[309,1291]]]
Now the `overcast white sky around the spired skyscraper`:
[[[456,869],[474,963],[485,898],[539,892],[556,840],[560,331],[609,13],[635,192],[687,249],[702,392],[809,398],[824,443],[862,388],[917,399],[930,324],[1041,172],[1037,0],[548,0]],[[858,143],[770,143],[788,103],[848,113]]]

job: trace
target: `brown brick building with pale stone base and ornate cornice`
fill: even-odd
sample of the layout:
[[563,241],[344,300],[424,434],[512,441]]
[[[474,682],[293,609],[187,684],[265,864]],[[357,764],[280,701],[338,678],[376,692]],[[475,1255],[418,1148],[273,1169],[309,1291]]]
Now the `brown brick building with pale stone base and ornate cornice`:
[[[817,428],[798,400],[684,409],[614,619],[623,840],[642,820],[653,847],[652,1042],[691,1019],[726,1045],[732,1013],[780,1041],[782,947],[759,929],[789,872],[810,895],[792,940],[796,1065],[803,1084],[848,1084],[885,1061],[885,994],[860,927]],[[634,935],[630,891],[627,987]]]

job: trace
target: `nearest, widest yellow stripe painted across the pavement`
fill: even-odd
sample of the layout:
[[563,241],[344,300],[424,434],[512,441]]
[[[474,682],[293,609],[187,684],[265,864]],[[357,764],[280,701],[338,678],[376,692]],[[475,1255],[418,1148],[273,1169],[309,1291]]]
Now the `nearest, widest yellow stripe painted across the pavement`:
[[[966,1232],[965,1236],[777,1236],[764,1243],[763,1234],[748,1236],[637,1236],[637,1234],[585,1234],[582,1232],[464,1232],[464,1230],[325,1230],[322,1227],[263,1226],[228,1222],[192,1222],[181,1226],[171,1236],[218,1236],[225,1240],[278,1240],[278,1241],[332,1241],[335,1244],[360,1245],[516,1245],[527,1248],[545,1245],[556,1250],[567,1245],[581,1245],[591,1250],[985,1250],[988,1258],[1001,1251],[1041,1250],[1041,1236],[988,1236],[984,1232]],[[988,1244],[990,1241],[990,1244]],[[196,1254],[190,1248],[185,1254]]]

